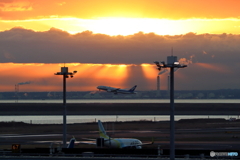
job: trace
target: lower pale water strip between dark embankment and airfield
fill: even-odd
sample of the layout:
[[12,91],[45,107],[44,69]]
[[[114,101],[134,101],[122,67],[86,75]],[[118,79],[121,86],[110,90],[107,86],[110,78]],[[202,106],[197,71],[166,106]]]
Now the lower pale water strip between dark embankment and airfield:
[[[196,118],[239,118],[238,116],[175,116],[175,120],[180,119],[196,119]],[[115,121],[139,121],[139,120],[148,120],[148,121],[166,121],[169,120],[169,116],[67,116],[67,123],[87,123],[87,122],[96,122],[101,120],[103,122],[115,122]],[[62,116],[1,116],[1,122],[24,122],[29,124],[62,124]]]

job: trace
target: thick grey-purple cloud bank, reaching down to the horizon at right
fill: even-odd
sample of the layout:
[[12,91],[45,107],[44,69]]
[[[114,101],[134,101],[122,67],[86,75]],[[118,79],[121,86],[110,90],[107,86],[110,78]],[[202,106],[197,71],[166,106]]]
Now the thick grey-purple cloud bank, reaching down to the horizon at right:
[[54,28],[46,32],[13,28],[0,32],[0,62],[152,64],[166,60],[173,47],[174,55],[190,63],[177,71],[181,89],[240,89],[239,44],[240,35],[231,34],[111,37],[90,31],[70,35]]

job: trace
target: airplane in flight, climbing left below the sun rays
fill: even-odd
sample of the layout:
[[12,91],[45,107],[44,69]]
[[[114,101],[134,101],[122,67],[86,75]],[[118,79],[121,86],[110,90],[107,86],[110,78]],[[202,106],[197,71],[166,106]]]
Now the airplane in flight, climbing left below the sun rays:
[[120,88],[114,88],[109,86],[98,86],[97,89],[107,91],[107,92],[114,92],[114,94],[122,93],[122,94],[136,94],[134,90],[137,88],[137,85],[133,86],[131,89],[120,89]]

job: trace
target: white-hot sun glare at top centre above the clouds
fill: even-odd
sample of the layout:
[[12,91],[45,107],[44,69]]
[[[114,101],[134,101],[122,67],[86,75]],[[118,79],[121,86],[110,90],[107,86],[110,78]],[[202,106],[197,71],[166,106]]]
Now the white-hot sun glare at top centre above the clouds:
[[156,33],[159,35],[174,35],[178,28],[173,27],[172,21],[149,18],[100,18],[88,26],[93,33],[111,36],[131,35],[138,32]]

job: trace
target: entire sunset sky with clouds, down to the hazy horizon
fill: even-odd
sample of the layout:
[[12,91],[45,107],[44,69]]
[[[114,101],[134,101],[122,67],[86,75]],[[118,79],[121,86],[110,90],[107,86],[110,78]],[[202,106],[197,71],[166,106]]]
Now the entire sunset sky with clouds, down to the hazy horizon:
[[69,91],[98,85],[155,90],[173,55],[188,67],[175,89],[240,89],[239,0],[0,0],[0,92]]

